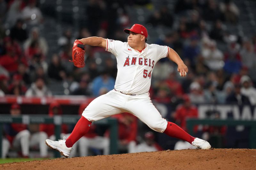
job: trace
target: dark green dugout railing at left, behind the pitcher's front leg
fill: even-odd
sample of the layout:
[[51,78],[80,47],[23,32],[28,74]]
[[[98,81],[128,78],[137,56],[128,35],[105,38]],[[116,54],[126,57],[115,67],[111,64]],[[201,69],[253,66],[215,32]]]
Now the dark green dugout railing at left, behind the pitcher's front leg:
[[[2,138],[3,138],[3,124],[4,123],[24,123],[24,124],[54,124],[55,125],[55,136],[56,139],[60,139],[61,133],[61,124],[76,124],[76,122],[81,118],[77,115],[56,115],[49,117],[48,115],[21,115],[13,117],[11,115],[1,115],[0,116],[0,153],[2,155]],[[117,120],[115,118],[105,118],[96,122],[93,122],[96,125],[108,126],[110,130],[110,154],[117,154]],[[56,158],[60,157],[60,153],[54,151],[54,156]]]

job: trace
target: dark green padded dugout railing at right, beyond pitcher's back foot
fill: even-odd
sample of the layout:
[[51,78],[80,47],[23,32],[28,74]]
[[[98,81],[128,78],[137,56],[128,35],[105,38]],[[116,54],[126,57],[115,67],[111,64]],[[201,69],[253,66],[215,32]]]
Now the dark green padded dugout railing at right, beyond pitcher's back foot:
[[195,125],[213,125],[213,126],[250,126],[250,136],[249,136],[249,145],[250,149],[256,149],[256,121],[247,121],[247,120],[212,120],[212,119],[187,119],[187,129],[189,134],[194,135],[193,127]]

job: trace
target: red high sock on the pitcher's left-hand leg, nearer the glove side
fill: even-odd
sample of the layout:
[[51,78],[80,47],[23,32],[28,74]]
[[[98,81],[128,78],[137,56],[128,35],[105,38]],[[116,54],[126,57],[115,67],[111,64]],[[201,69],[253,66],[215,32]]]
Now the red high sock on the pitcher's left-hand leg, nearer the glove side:
[[84,116],[82,116],[79,121],[76,123],[75,128],[72,133],[66,139],[66,146],[68,148],[72,147],[73,144],[78,141],[82,136],[84,136],[90,129],[92,122],[88,121]]

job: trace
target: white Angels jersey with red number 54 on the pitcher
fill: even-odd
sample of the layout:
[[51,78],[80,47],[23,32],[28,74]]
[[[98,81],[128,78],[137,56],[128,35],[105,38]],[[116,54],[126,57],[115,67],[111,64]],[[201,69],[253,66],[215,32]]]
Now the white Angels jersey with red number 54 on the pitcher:
[[157,61],[169,53],[167,46],[146,44],[142,52],[131,48],[127,42],[106,39],[106,51],[116,56],[117,76],[115,89],[125,94],[148,92],[151,76]]

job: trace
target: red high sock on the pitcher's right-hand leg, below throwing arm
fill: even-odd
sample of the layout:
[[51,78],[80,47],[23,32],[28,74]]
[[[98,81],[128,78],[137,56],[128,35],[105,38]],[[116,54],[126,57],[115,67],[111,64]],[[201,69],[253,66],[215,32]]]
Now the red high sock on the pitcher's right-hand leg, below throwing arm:
[[195,137],[190,136],[187,132],[181,129],[178,125],[172,122],[168,122],[164,133],[170,137],[176,137],[178,139],[185,140],[190,144],[194,141]]

